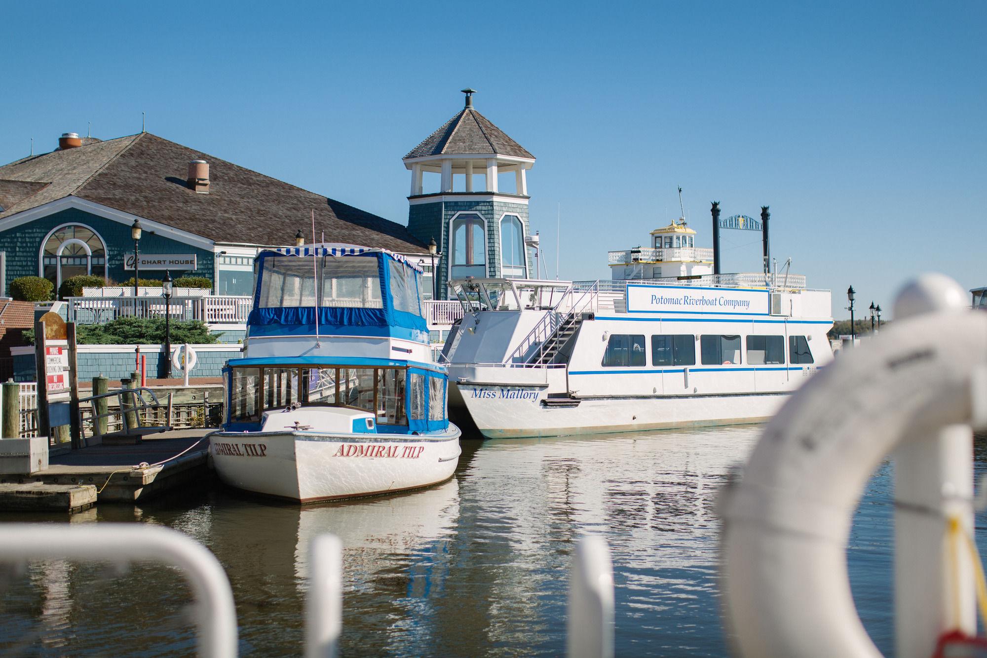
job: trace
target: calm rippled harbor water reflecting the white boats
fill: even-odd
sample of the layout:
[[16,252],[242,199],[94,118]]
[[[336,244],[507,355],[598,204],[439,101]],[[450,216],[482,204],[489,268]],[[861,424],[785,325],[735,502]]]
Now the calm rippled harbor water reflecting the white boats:
[[[157,524],[207,545],[233,584],[241,655],[253,656],[301,653],[306,547],[324,532],[344,545],[342,655],[560,655],[573,541],[601,533],[614,561],[617,654],[717,656],[726,652],[717,492],[759,431],[464,441],[455,477],[416,493],[299,509],[217,489],[136,509],[103,505],[71,521]],[[987,440],[976,448],[979,473]],[[884,464],[848,552],[861,617],[885,653],[890,496]],[[978,516],[978,528],[985,521]],[[4,655],[193,651],[190,593],[168,569],[34,563],[0,576],[0,592]]]

